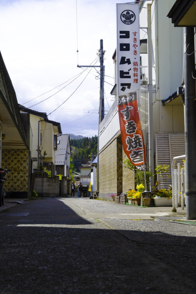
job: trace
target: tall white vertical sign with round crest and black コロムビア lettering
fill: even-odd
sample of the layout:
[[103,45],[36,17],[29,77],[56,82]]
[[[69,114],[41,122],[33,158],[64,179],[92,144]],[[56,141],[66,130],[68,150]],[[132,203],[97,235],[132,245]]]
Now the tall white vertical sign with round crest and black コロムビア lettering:
[[117,95],[140,89],[139,4],[116,4]]

